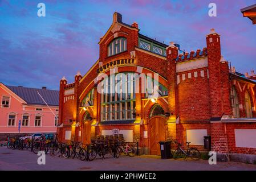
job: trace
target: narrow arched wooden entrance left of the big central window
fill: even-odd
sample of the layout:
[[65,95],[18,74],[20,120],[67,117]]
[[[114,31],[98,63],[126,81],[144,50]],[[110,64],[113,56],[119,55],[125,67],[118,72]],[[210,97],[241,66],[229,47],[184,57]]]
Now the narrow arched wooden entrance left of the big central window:
[[83,119],[83,134],[82,134],[83,144],[91,143],[91,128],[92,128],[92,118],[90,113],[86,112]]

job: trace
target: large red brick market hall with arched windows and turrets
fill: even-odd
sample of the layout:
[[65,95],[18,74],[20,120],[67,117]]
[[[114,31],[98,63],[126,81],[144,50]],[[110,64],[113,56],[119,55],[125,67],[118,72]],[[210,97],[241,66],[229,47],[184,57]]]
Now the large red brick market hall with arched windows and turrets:
[[[205,150],[210,136],[220,156],[256,155],[256,75],[230,67],[220,34],[212,28],[205,32],[206,47],[185,52],[178,43],[140,34],[136,22],[126,24],[114,13],[95,64],[74,82],[60,80],[58,139],[88,144],[91,137],[120,133],[139,143],[140,154],[159,155],[162,140]],[[99,92],[103,82],[109,91],[119,80],[121,93]],[[145,87],[144,80],[152,84]],[[157,97],[148,85],[157,85]]]

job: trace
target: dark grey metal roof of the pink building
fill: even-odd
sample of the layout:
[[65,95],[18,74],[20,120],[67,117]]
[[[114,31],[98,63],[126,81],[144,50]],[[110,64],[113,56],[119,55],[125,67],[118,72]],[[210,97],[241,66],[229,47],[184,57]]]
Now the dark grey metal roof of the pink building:
[[[7,86],[7,85],[6,85]],[[7,86],[11,91],[21,97],[27,104],[59,106],[59,91],[48,89],[27,88],[23,86]],[[39,96],[39,94],[43,97]]]

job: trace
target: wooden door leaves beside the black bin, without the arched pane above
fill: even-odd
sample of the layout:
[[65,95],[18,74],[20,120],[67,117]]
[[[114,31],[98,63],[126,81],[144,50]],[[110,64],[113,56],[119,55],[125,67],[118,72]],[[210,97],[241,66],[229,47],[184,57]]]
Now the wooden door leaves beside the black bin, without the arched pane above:
[[149,120],[149,150],[151,155],[160,155],[160,141],[165,141],[165,119],[152,117]]

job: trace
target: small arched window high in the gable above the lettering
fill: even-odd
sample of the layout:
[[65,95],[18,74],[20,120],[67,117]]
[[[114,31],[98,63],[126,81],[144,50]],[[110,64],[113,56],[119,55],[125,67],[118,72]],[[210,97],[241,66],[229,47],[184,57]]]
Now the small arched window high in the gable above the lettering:
[[108,45],[108,56],[127,50],[127,40],[125,38],[117,38]]

